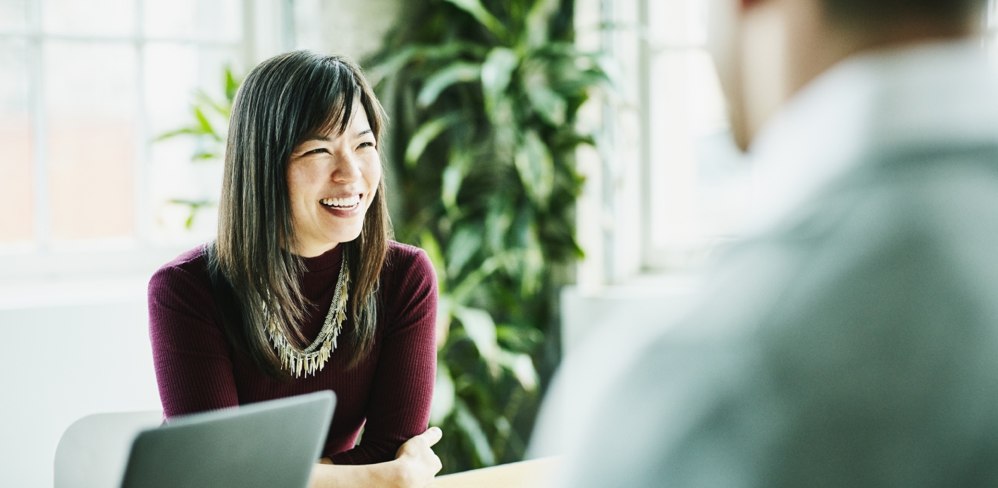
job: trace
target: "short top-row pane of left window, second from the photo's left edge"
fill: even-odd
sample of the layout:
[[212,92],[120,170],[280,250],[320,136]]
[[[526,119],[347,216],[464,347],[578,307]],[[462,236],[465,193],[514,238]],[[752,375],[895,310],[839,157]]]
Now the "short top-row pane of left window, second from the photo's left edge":
[[39,0],[42,25],[52,34],[131,36],[136,0]]

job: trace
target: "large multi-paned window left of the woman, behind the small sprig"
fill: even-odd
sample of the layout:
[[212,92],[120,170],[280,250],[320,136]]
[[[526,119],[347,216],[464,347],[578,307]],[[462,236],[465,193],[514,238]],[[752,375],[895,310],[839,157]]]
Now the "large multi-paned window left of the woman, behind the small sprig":
[[[240,0],[0,0],[0,252],[183,240],[171,200],[217,193],[189,123],[242,68]],[[173,206],[177,207],[177,206]]]

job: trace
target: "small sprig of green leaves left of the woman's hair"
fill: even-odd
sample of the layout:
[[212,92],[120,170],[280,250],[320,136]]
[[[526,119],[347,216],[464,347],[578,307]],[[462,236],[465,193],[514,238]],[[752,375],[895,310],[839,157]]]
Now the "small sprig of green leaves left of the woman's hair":
[[[157,137],[154,142],[166,141],[177,137],[191,137],[195,140],[195,151],[191,161],[202,164],[220,163],[225,159],[226,133],[229,130],[229,115],[233,109],[233,100],[240,88],[241,80],[226,67],[223,74],[223,99],[216,100],[204,90],[195,92],[195,101],[191,104],[194,115],[192,123]],[[188,219],[185,228],[194,226],[195,217],[204,208],[215,207],[217,202],[211,200],[173,199],[171,204],[188,208]]]

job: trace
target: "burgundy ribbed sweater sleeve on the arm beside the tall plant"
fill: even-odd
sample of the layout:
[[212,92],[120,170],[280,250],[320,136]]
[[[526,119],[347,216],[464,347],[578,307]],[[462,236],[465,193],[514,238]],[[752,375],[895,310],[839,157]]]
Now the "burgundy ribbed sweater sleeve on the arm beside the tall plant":
[[[401,254],[399,252],[398,254]],[[384,296],[387,329],[367,403],[360,444],[331,456],[335,464],[390,461],[429,424],[436,378],[436,274],[421,249],[395,257],[398,284]]]

